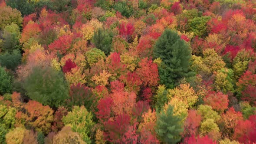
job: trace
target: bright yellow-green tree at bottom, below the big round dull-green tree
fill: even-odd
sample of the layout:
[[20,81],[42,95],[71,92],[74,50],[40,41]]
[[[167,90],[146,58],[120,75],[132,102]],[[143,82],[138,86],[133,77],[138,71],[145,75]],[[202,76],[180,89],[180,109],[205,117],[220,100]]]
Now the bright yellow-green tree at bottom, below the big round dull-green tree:
[[63,116],[65,125],[70,124],[73,131],[79,133],[83,141],[90,143],[91,128],[95,124],[92,121],[92,113],[88,112],[84,106],[74,106],[68,115]]

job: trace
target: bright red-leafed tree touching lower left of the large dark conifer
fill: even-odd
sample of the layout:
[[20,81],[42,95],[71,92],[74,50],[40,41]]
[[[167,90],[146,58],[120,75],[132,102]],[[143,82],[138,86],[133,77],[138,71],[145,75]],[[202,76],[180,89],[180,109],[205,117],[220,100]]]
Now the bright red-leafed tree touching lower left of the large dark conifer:
[[144,86],[156,86],[158,85],[158,65],[153,63],[151,59],[144,58],[138,63],[139,68],[136,70],[137,74],[141,78]]

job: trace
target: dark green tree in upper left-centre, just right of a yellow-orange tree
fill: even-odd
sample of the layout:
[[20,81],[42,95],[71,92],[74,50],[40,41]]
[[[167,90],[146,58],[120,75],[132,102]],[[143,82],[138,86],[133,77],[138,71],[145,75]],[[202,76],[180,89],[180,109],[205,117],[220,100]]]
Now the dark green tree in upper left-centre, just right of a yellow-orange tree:
[[105,29],[98,29],[94,32],[92,43],[108,56],[112,47],[112,35]]

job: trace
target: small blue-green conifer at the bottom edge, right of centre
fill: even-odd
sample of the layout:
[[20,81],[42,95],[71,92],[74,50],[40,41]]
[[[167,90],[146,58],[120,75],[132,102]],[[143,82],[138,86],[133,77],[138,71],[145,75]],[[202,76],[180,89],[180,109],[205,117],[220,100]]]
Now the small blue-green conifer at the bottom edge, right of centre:
[[174,115],[174,110],[171,105],[167,109],[162,109],[157,113],[157,122],[155,131],[161,141],[168,144],[175,144],[181,140],[181,117]]

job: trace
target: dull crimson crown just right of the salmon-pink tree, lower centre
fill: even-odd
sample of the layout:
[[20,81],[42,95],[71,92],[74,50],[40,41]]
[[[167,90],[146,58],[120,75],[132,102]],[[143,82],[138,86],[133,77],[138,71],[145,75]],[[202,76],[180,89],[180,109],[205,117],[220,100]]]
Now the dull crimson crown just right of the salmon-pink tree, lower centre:
[[138,101],[132,108],[132,114],[135,115],[136,118],[138,118],[138,120],[140,120],[142,114],[144,112],[147,112],[148,109],[149,109],[149,104],[147,101]]

